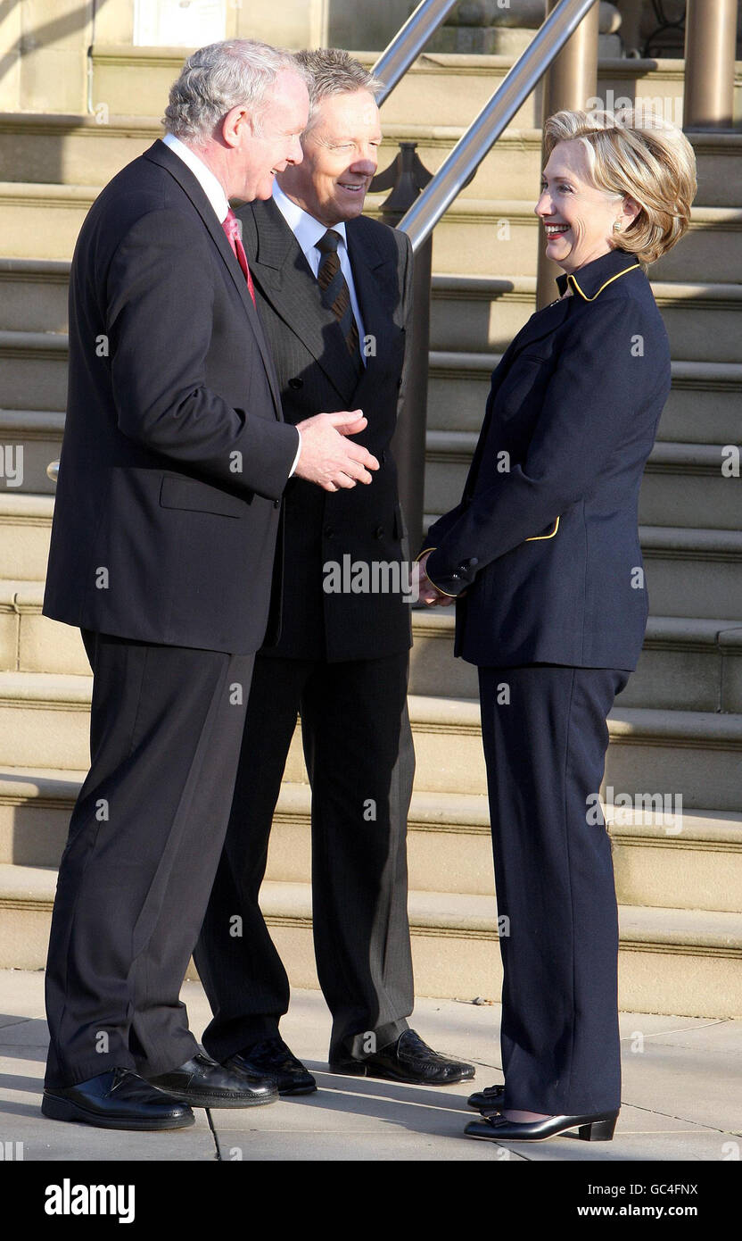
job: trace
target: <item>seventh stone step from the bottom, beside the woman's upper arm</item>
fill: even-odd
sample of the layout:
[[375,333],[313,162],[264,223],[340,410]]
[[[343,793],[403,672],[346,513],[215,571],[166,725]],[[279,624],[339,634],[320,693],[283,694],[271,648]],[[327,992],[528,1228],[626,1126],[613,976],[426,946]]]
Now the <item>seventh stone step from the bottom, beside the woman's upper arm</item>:
[[[479,431],[499,356],[431,351],[430,429]],[[738,444],[742,438],[742,365],[673,362],[673,390],[660,421],[659,438],[689,444]]]

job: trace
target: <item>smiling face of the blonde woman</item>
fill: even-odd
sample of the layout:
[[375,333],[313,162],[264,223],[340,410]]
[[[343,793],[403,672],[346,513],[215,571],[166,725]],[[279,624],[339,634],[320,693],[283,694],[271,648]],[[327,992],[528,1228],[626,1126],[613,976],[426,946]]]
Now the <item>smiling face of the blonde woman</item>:
[[631,199],[616,199],[591,184],[587,154],[577,140],[557,143],[541,176],[535,206],[546,232],[546,257],[565,272],[576,272],[621,243],[634,218]]

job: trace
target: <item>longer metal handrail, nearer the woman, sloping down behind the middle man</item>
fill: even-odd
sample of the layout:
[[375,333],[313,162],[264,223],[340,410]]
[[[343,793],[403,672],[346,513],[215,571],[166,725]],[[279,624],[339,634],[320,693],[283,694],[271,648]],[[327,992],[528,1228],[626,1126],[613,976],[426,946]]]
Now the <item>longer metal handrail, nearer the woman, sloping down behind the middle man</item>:
[[561,0],[472,122],[416,202],[398,223],[416,251],[510,123],[596,0]]

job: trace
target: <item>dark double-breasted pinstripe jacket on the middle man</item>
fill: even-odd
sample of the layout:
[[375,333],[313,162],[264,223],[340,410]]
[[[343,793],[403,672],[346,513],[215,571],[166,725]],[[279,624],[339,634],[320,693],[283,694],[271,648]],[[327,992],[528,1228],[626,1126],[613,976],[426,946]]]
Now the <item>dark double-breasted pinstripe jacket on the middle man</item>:
[[242,207],[243,241],[274,357],[286,422],[323,411],[363,410],[356,439],[380,468],[368,485],[322,491],[291,479],[285,495],[281,639],[268,654],[302,659],[373,659],[410,645],[410,608],[399,592],[326,593],[323,566],[399,562],[404,545],[396,465],[389,447],[405,388],[411,315],[411,247],[388,225],[359,217],[346,226],[353,283],[375,354],[360,379],[339,325],[273,200]]

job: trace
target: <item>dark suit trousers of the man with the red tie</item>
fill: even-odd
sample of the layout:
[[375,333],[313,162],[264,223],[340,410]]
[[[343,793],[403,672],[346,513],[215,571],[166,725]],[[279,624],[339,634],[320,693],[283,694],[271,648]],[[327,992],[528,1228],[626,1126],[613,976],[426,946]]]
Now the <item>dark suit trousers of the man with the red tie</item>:
[[59,865],[46,1085],[175,1069],[197,1050],[180,989],[219,860],[254,655],[83,630],[90,771]]

